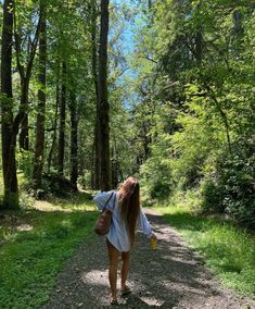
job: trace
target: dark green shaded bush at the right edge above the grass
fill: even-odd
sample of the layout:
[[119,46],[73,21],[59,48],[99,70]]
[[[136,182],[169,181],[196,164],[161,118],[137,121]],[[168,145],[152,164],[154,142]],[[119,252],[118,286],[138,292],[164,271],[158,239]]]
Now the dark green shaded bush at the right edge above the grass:
[[255,226],[253,139],[241,139],[232,145],[232,152],[221,152],[216,160],[216,172],[201,185],[203,208],[226,212],[239,223]]

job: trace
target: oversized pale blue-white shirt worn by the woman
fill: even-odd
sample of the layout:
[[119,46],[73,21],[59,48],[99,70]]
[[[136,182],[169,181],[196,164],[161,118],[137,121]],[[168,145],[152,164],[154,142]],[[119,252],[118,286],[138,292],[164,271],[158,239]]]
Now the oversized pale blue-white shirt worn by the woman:
[[[113,193],[112,197],[111,194]],[[120,212],[118,207],[118,194],[114,190],[102,191],[94,196],[93,201],[100,210],[102,210],[111,197],[106,208],[113,210],[112,224],[110,231],[106,234],[109,242],[120,252],[127,252],[130,250],[129,234],[125,222],[120,220]],[[138,230],[140,230],[144,235],[151,237],[152,227],[143,213],[142,209],[138,218]]]

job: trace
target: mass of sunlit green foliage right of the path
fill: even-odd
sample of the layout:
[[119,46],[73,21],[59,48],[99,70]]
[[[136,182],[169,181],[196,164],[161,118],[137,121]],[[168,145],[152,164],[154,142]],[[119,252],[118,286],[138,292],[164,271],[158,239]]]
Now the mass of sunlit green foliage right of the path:
[[204,210],[247,227],[255,226],[254,16],[248,1],[156,1],[137,28],[132,62],[144,110],[138,128],[149,123],[141,166],[149,196],[196,188]]

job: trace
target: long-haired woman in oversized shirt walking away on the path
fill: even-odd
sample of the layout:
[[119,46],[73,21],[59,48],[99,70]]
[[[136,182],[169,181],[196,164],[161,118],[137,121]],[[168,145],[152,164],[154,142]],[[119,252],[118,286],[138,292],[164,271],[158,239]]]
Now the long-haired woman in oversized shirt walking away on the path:
[[[110,199],[110,200],[109,200]],[[113,210],[112,224],[106,235],[110,268],[109,281],[111,286],[110,301],[117,302],[117,268],[118,257],[122,256],[122,295],[131,293],[126,285],[130,249],[135,243],[136,228],[139,228],[148,237],[156,239],[151,225],[140,207],[139,182],[133,177],[128,177],[117,191],[99,193],[94,197],[95,205],[103,209],[107,202],[107,208]]]

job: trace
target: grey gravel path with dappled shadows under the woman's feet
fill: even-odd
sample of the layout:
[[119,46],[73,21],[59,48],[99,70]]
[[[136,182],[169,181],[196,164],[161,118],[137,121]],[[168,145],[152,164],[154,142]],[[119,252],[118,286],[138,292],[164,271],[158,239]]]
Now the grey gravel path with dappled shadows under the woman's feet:
[[[158,237],[152,251],[138,234],[132,251],[129,285],[132,294],[120,298],[120,308],[247,309],[245,297],[224,289],[203,260],[164,224],[162,217],[148,213]],[[84,245],[67,263],[43,309],[105,308],[109,305],[107,255],[103,237]]]

